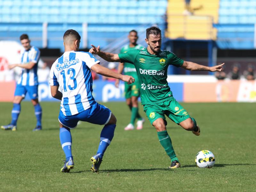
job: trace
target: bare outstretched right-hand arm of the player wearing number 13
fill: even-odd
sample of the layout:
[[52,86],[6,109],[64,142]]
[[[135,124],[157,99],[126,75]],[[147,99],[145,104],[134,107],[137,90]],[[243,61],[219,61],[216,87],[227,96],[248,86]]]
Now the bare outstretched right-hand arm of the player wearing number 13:
[[128,82],[128,84],[132,84],[135,81],[132,76],[116,73],[115,71],[111,71],[110,69],[101,65],[95,64],[91,67],[91,69],[100,75],[121,79],[122,81]]

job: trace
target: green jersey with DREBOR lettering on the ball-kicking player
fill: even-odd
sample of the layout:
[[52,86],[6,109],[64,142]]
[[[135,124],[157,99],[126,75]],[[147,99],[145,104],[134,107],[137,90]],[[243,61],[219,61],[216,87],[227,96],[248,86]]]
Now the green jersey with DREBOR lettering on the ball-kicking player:
[[183,60],[165,50],[161,50],[157,55],[151,55],[147,48],[133,49],[118,56],[121,62],[132,63],[136,68],[142,105],[172,99],[172,92],[166,80],[167,68],[169,65],[180,67]]

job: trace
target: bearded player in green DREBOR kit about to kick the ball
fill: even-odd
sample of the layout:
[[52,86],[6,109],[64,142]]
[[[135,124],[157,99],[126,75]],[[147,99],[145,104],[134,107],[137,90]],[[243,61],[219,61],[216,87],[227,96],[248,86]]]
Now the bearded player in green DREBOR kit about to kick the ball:
[[196,120],[188,115],[188,112],[173,98],[167,83],[167,68],[169,65],[182,67],[191,71],[222,71],[221,65],[208,67],[193,62],[184,61],[174,53],[161,50],[161,30],[151,27],[146,30],[145,49],[134,49],[122,54],[101,52],[100,46],[92,45],[90,52],[98,54],[107,61],[133,63],[140,82],[141,103],[150,123],[156,128],[157,135],[165,152],[171,159],[169,168],[180,167],[172,147],[172,141],[166,131],[165,115],[173,122],[179,124],[187,131],[200,135]]

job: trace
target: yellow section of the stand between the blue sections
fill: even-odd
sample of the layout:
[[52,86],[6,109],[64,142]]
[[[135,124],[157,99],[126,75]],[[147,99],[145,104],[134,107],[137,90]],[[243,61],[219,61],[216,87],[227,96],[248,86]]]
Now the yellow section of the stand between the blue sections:
[[166,36],[170,39],[215,40],[217,30],[213,28],[213,22],[218,21],[219,0],[191,0],[190,9],[186,8],[184,0],[168,1]]

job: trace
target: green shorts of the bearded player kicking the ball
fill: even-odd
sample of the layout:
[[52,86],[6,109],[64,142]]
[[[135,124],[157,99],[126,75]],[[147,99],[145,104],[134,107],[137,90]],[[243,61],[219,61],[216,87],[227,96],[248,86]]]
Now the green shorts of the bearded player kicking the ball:
[[190,118],[188,112],[174,98],[157,104],[144,105],[143,108],[151,124],[156,119],[162,118],[167,125],[164,115],[177,124]]

